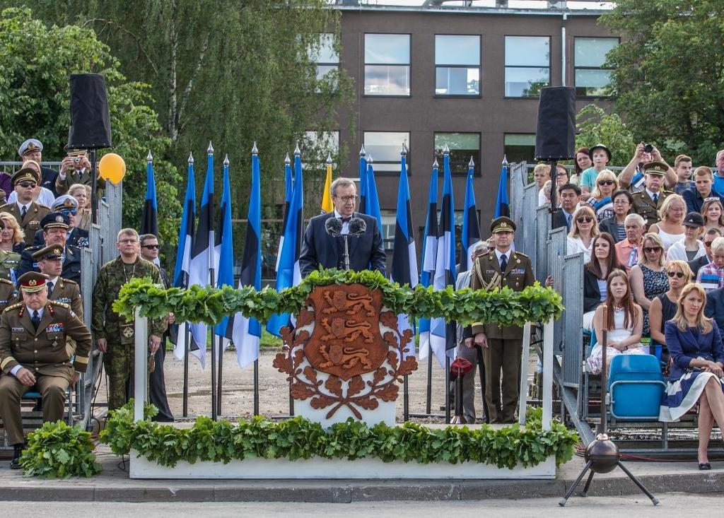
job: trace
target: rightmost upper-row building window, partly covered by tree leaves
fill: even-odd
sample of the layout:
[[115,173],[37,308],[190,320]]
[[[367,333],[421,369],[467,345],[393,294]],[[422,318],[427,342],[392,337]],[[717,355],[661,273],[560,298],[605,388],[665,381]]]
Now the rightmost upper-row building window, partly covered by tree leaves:
[[607,95],[611,69],[603,68],[606,54],[618,45],[618,38],[576,38],[574,82],[576,95],[602,97]]

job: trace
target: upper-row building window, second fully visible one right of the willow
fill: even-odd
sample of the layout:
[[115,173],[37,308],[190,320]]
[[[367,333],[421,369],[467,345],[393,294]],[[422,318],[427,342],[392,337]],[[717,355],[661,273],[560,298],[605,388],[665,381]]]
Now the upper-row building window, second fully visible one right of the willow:
[[435,95],[480,95],[480,36],[435,35]]

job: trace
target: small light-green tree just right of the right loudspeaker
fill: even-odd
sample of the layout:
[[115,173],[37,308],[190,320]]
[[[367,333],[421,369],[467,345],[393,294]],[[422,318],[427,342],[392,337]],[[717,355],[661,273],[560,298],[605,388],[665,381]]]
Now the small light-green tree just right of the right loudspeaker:
[[612,166],[625,166],[631,160],[636,143],[618,114],[607,114],[599,106],[588,104],[576,115],[576,128],[576,148],[604,144],[611,150]]

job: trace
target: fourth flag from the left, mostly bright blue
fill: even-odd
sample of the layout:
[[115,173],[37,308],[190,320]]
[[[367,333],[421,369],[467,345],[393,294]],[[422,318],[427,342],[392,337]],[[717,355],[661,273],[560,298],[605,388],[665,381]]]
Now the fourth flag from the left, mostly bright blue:
[[[234,286],[234,237],[231,225],[231,185],[229,183],[229,156],[224,158],[224,190],[222,191],[222,203],[219,205],[219,218],[216,226],[216,243],[214,245],[214,256],[218,258],[219,270],[216,271],[216,287]],[[214,334],[222,337],[222,350],[218,352],[217,358],[232,342],[234,318],[224,317],[214,327]],[[216,341],[214,340],[214,347]]]

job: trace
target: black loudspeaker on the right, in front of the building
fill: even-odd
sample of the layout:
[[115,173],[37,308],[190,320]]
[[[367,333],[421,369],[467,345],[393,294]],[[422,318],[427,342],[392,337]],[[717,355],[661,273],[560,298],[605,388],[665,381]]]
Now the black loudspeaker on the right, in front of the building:
[[571,86],[541,89],[536,124],[536,160],[576,157],[576,90]]

